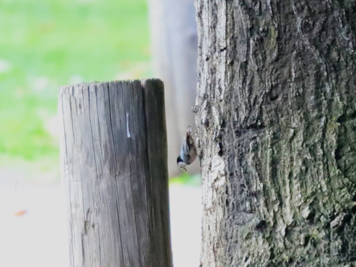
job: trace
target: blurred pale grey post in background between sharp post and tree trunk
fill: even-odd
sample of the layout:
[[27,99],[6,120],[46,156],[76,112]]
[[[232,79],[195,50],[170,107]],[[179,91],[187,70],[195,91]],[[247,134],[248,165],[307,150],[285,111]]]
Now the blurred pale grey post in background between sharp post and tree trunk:
[[[198,35],[194,0],[149,0],[155,75],[164,82],[169,176],[179,175],[176,159],[188,124],[195,130]],[[199,160],[189,166],[199,172]]]

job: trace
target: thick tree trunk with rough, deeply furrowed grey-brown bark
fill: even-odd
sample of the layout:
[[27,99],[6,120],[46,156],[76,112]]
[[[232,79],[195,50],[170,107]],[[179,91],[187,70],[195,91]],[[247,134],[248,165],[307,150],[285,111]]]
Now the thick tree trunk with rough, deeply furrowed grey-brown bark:
[[202,266],[351,266],[356,2],[195,4]]

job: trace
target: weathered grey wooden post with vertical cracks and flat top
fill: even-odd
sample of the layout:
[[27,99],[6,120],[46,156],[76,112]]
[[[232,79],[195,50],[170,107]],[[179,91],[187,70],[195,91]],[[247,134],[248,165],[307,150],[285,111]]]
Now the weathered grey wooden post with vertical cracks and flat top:
[[59,89],[71,266],[172,266],[163,82]]

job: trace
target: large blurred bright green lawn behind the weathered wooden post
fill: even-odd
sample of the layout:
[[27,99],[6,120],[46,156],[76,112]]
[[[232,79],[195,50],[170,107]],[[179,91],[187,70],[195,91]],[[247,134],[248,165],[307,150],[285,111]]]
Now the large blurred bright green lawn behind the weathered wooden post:
[[[58,161],[60,85],[150,72],[145,0],[0,0],[0,155]],[[142,68],[141,68],[142,69]],[[46,163],[47,164],[47,163]]]

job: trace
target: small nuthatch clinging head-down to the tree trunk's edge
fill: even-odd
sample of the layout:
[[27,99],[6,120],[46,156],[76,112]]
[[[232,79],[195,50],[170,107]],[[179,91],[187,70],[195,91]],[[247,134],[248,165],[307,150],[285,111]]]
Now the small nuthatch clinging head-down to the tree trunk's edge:
[[191,132],[192,126],[189,125],[187,135],[183,138],[182,147],[180,148],[180,153],[177,158],[177,165],[185,171],[187,171],[185,166],[192,163],[197,157],[197,147],[195,146]]

